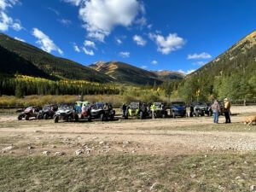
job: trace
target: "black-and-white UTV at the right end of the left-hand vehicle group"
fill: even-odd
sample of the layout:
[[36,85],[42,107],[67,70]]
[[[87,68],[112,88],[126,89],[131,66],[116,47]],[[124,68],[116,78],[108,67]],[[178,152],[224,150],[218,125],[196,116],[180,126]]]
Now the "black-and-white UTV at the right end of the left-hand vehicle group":
[[90,109],[91,119],[113,120],[115,115],[115,110],[108,102],[96,102],[91,106]]

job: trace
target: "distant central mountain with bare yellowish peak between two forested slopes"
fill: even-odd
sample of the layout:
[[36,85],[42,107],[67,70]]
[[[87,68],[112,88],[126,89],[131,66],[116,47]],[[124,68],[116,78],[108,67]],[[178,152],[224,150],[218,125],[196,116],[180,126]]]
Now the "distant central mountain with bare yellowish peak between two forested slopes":
[[147,71],[142,68],[131,66],[124,62],[97,62],[89,67],[98,72],[108,74],[118,82],[126,84],[160,84],[166,79],[183,79],[182,76],[176,73],[160,73]]

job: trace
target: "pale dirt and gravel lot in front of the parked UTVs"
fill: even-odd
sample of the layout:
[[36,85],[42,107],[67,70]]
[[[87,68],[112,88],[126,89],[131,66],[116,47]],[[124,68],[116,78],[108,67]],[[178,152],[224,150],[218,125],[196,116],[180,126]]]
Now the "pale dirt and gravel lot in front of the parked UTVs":
[[[0,116],[3,155],[194,154],[214,150],[256,150],[256,126],[243,125],[256,107],[232,108],[232,123],[212,124],[212,118],[116,119],[113,122],[18,121]],[[8,148],[9,147],[9,148]],[[2,148],[2,149],[1,149]],[[8,148],[8,149],[5,149]],[[78,153],[78,151],[80,151]]]

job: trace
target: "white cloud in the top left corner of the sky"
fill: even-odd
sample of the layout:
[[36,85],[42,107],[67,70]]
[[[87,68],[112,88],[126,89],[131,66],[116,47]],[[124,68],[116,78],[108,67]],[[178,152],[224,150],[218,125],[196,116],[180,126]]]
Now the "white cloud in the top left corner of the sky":
[[7,8],[12,8],[15,4],[20,3],[18,0],[0,0],[0,31],[6,32],[9,27],[15,31],[20,31],[23,27],[20,20],[13,20],[6,14]]

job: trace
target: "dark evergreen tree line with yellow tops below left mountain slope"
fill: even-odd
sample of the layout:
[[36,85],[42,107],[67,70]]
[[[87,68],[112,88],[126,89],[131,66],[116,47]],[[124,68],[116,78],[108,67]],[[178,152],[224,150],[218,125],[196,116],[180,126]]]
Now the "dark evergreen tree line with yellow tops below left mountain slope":
[[30,95],[118,95],[119,89],[112,84],[98,84],[86,81],[33,78],[18,75],[14,78],[0,78],[0,95],[30,96]]

